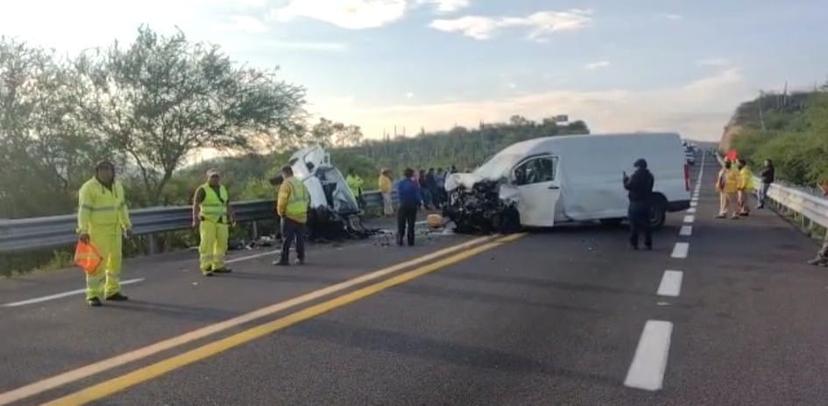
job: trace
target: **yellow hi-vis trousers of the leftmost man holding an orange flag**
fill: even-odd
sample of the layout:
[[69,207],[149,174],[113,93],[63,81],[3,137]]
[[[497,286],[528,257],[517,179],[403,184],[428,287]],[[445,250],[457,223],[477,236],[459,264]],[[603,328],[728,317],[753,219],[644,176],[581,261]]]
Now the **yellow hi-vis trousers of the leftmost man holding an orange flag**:
[[[94,274],[86,274],[86,299],[97,297],[104,299],[121,291],[122,260],[121,228],[118,225],[93,228],[89,232],[89,242],[103,257],[101,265]],[[106,279],[105,284],[104,279]]]

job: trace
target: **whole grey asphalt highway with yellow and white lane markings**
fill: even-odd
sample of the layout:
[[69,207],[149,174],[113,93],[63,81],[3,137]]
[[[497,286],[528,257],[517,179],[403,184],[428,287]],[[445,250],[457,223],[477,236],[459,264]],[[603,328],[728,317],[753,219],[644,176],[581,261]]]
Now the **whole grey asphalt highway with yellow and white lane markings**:
[[[715,172],[652,252],[576,225],[314,247],[306,267],[263,256],[210,279],[188,253],[130,261],[128,303],[0,307],[0,404],[828,404],[817,245],[769,211],[714,219]],[[76,272],[0,281],[0,304],[76,289]]]

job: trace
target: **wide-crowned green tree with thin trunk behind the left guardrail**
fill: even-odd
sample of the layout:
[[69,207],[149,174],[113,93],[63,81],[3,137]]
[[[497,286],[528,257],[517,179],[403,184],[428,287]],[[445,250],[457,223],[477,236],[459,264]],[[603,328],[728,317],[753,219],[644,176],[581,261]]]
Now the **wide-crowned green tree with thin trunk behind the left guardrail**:
[[86,53],[76,67],[85,120],[138,168],[151,204],[191,152],[272,147],[303,128],[303,88],[182,32],[141,27],[133,44]]

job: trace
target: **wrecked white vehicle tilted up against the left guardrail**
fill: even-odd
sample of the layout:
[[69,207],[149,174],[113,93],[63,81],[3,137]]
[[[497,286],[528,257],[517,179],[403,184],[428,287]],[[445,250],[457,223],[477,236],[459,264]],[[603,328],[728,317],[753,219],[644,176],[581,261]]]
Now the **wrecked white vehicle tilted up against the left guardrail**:
[[320,146],[307,147],[296,151],[288,163],[310,194],[311,240],[368,236],[356,197],[342,172],[331,164],[330,154]]

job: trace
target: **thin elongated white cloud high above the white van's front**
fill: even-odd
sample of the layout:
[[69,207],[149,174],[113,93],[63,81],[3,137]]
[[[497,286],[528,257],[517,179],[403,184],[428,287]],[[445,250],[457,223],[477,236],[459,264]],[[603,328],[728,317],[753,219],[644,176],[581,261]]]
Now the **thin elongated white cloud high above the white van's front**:
[[438,19],[431,28],[445,32],[459,32],[476,40],[492,38],[507,28],[528,28],[527,38],[543,42],[548,34],[558,31],[576,31],[592,22],[592,11],[570,9],[567,11],[539,11],[526,17],[464,16],[454,19]]

